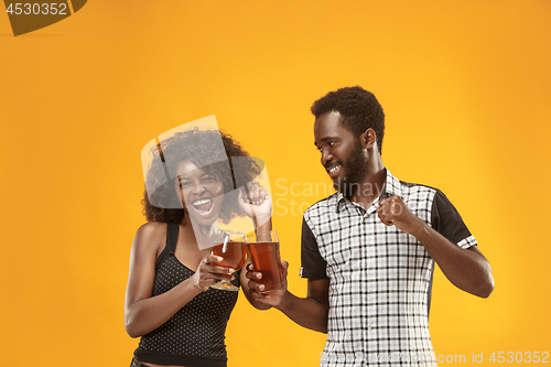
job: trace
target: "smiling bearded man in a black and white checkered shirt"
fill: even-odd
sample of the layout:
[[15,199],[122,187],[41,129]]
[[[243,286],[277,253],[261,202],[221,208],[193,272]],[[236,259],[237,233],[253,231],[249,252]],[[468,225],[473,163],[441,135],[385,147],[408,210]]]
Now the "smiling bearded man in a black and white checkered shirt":
[[494,289],[490,266],[441,191],[401,182],[385,168],[385,115],[371,93],[331,91],[312,112],[337,193],[304,213],[307,295],[294,296],[287,283],[260,294],[249,266],[253,296],[327,333],[321,366],[435,365],[428,323],[434,261],[453,284],[482,298]]

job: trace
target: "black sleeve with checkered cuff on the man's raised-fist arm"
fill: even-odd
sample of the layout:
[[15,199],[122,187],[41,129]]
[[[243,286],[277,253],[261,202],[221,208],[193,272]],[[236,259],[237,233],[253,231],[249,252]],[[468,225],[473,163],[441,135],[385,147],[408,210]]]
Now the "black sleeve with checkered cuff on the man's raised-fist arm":
[[476,246],[476,239],[463,222],[460,213],[440,190],[432,202],[432,228],[461,248]]

